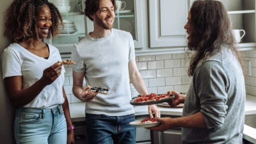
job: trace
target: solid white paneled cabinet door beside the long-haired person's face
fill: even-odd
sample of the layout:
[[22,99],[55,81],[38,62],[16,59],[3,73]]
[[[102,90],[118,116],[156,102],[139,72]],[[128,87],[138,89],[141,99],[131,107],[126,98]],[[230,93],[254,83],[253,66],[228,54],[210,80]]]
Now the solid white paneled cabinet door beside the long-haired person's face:
[[190,0],[149,0],[150,47],[184,46]]

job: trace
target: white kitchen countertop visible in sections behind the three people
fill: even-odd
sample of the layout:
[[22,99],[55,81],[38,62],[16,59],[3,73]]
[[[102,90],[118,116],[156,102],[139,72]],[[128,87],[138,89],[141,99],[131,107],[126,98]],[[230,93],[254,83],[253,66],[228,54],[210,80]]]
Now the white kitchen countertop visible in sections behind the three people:
[[[245,115],[249,114],[256,114],[256,96],[246,95],[245,101]],[[162,115],[182,115],[182,108],[171,108],[171,107],[163,107],[158,106],[161,110]],[[85,109],[85,102],[78,102],[78,103],[69,103],[70,115],[72,121],[81,121],[84,120],[84,109]],[[135,115],[147,115],[147,105],[142,106],[134,106]],[[244,124],[243,129],[243,138],[252,142],[256,143],[256,129],[255,127],[250,127]]]

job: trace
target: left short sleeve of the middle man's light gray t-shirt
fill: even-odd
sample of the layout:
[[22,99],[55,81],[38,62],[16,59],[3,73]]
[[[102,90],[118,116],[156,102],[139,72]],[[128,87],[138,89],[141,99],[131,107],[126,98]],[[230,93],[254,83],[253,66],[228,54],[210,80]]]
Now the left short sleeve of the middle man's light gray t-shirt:
[[78,54],[76,44],[72,48],[71,59],[75,62],[75,64],[72,64],[72,69],[75,72],[84,72],[85,71],[85,65],[84,65],[83,61],[81,60],[80,55]]

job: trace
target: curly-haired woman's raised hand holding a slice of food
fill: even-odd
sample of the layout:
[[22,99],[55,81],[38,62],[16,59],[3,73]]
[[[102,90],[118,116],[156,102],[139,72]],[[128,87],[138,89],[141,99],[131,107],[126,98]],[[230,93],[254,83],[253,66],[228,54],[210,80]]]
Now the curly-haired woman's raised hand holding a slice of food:
[[43,74],[40,79],[43,81],[45,85],[49,85],[57,79],[61,72],[61,66],[61,63],[56,62],[43,70]]

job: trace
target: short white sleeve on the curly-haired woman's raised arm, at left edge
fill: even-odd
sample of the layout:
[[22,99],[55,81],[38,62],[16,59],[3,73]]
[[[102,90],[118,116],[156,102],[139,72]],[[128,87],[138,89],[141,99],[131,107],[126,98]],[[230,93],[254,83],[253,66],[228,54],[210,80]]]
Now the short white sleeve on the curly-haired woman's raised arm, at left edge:
[[12,49],[5,48],[3,50],[1,64],[3,79],[9,76],[22,75],[20,59],[18,54],[16,54]]

